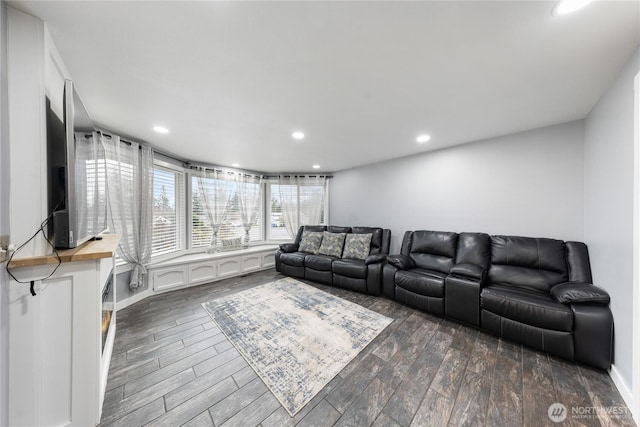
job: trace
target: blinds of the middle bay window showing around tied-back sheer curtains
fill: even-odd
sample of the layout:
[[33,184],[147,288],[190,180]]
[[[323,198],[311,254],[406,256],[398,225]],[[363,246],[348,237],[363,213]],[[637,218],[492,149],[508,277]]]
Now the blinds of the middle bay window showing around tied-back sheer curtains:
[[[211,222],[207,215],[207,211],[205,208],[205,197],[203,197],[202,189],[200,188],[200,182],[204,185],[211,184],[211,187],[214,187],[214,183],[209,183],[209,181],[213,181],[211,178],[203,178],[192,176],[191,178],[191,211],[192,211],[192,219],[191,219],[191,247],[205,247],[209,246],[211,243],[212,237],[212,228]],[[229,202],[226,206],[219,206],[216,203],[216,209],[224,209],[224,217],[222,220],[222,225],[218,230],[218,239],[229,240],[229,239],[243,239],[245,235],[244,226],[242,224],[242,215],[240,212],[240,203],[238,191],[236,190],[236,183],[231,180],[218,180],[219,182],[216,185],[230,186],[231,197],[229,198]],[[255,184],[258,186],[258,184]],[[262,233],[262,218],[264,216],[264,201],[261,199],[260,203],[260,214],[257,216],[256,222],[252,225],[251,230],[249,231],[249,241],[250,242],[259,242],[264,240]]]

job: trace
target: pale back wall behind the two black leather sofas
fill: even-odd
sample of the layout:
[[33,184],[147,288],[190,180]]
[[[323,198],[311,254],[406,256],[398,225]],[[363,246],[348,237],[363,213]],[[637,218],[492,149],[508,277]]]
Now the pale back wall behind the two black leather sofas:
[[336,225],[583,239],[583,121],[334,174]]

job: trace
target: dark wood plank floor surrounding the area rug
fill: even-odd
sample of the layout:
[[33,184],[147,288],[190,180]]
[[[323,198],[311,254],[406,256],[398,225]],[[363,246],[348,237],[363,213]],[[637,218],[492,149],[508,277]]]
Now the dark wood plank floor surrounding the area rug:
[[[395,321],[292,418],[200,305],[281,277],[254,273],[119,311],[100,425],[635,425],[606,372],[311,282]],[[562,424],[547,415],[555,402],[569,412]]]

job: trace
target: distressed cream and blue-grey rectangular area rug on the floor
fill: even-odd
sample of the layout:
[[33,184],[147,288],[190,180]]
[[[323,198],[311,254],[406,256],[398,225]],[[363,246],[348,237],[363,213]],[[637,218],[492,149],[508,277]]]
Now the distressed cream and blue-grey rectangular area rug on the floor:
[[393,321],[290,278],[202,306],[291,416]]

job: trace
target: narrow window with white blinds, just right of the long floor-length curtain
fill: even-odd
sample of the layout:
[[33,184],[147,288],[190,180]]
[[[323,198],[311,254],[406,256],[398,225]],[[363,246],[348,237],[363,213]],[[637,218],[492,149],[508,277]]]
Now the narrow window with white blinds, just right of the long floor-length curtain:
[[184,248],[184,218],[184,173],[154,166],[152,256]]

